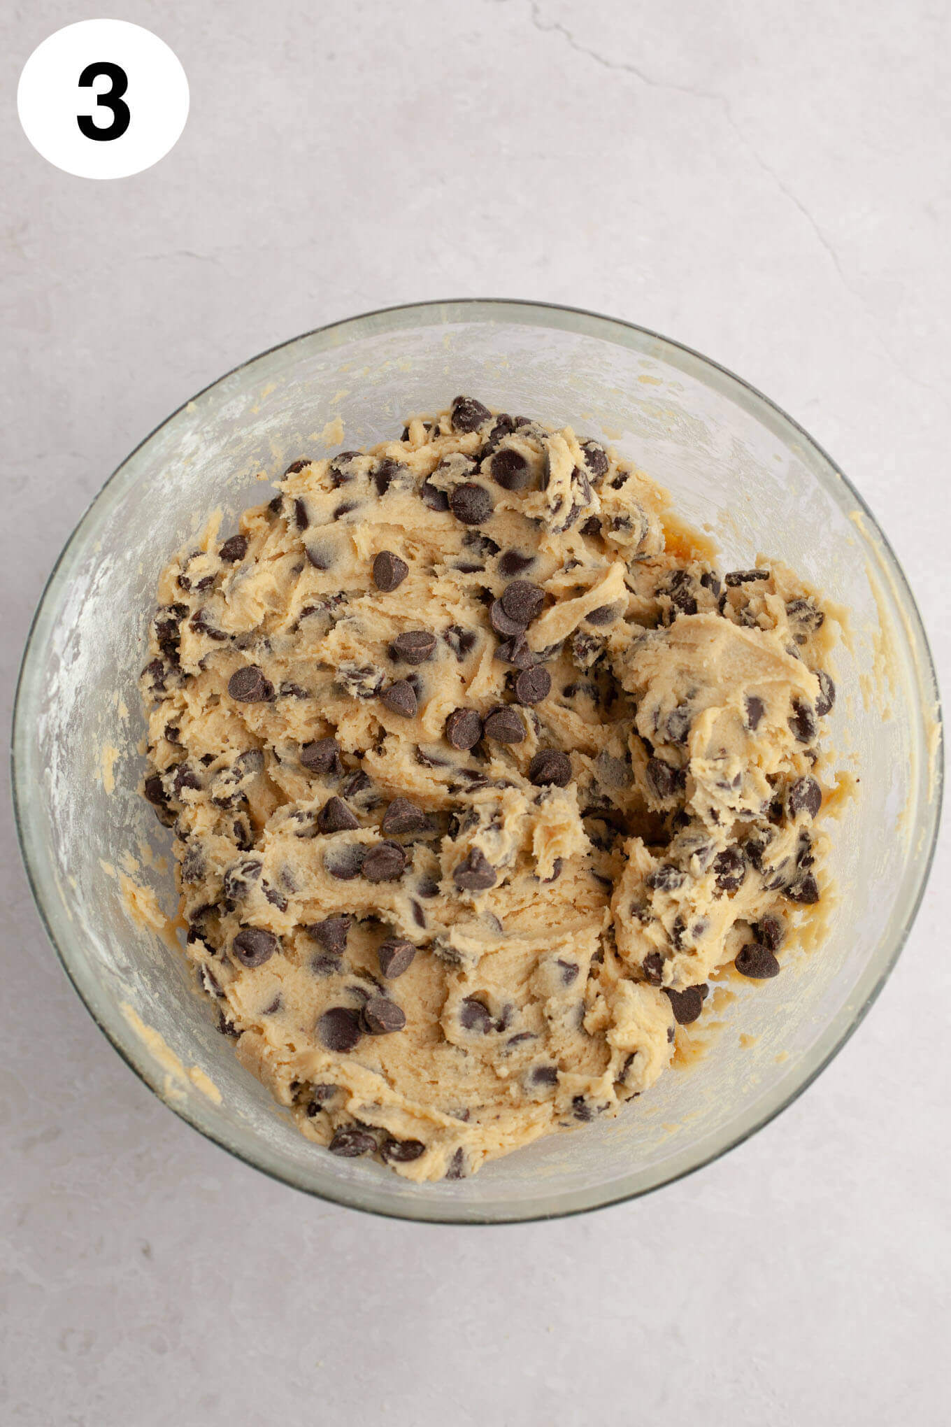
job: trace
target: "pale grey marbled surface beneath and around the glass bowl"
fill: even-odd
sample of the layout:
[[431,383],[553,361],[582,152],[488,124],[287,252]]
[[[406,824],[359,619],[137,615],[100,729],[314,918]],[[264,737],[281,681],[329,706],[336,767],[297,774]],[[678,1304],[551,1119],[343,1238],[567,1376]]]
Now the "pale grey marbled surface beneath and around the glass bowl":
[[[7,96],[84,13],[7,11]],[[110,13],[174,47],[191,117],[90,183],[0,111],[7,702],[61,544],[170,410],[298,331],[455,295],[612,313],[767,391],[881,519],[947,675],[947,7]],[[777,1122],[640,1203],[498,1230],[309,1202],[201,1140],[67,986],[9,828],[0,875],[3,1423],[947,1421],[947,843]]]

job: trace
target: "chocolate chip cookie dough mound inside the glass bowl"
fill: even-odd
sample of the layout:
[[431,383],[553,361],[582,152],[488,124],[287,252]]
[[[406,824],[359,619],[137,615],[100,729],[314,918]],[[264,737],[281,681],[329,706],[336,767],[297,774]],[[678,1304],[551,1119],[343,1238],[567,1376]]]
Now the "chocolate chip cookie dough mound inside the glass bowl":
[[302,457],[158,602],[187,956],[334,1154],[452,1179],[615,1113],[823,893],[834,621],[570,428],[458,397]]

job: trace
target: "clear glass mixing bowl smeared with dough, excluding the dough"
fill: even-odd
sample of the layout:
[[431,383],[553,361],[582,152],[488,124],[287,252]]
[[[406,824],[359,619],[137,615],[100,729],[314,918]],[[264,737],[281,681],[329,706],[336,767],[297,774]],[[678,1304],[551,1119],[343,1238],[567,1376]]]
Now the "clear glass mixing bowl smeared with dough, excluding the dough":
[[[726,568],[763,552],[848,606],[851,648],[838,656],[828,722],[861,781],[834,826],[838,893],[821,949],[776,980],[737,989],[701,1059],[672,1069],[615,1120],[538,1142],[473,1179],[416,1186],[305,1140],[238,1065],[184,958],[150,928],[150,898],[167,912],[177,899],[163,860],[168,833],[135,791],[137,678],[158,572],[214,507],[228,529],[265,498],[259,471],[324,454],[327,441],[334,450],[391,438],[406,414],[461,391],[612,442],[716,535]],[[855,1029],[898,956],[928,875],[940,785],[937,688],[918,611],[830,458],[696,352],[626,323],[528,303],[433,303],[336,323],[181,407],[115,471],[60,557],[14,718],[16,809],[36,902],[67,975],[128,1065],[202,1134],[275,1179],[339,1204],[451,1223],[552,1217],[643,1194],[787,1106]]]

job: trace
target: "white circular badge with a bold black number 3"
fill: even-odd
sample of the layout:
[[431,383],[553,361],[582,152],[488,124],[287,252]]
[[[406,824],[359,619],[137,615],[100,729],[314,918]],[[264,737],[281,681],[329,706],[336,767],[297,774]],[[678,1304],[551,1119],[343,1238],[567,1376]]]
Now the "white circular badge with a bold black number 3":
[[80,20],[23,66],[17,110],[27,138],[78,178],[125,178],[164,158],[188,118],[188,80],[151,30]]

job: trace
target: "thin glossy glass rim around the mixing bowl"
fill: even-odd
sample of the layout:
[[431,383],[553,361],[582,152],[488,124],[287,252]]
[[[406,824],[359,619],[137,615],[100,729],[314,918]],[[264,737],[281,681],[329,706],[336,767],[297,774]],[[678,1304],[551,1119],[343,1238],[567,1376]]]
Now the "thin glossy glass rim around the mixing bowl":
[[[557,314],[557,320],[555,320],[555,314]],[[235,1144],[230,1143],[225,1137],[220,1136],[212,1129],[202,1124],[200,1116],[188,1113],[191,1107],[188,1106],[178,1107],[168,1103],[168,1100],[163,1096],[160,1090],[160,1077],[157,1075],[150,1076],[148,1070],[145,1069],[145,1066],[150,1066],[151,1069],[147,1056],[141,1057],[143,1063],[140,1065],[135,1056],[133,1055],[131,1036],[130,1036],[130,1045],[125,1045],[118,1037],[118,1035],[113,1033],[113,1027],[107,1026],[103,1022],[103,1019],[100,1019],[100,1016],[96,1013],[96,1010],[87,1000],[86,995],[83,993],[83,989],[77,985],[77,980],[71,973],[68,960],[54,932],[53,919],[47,915],[46,892],[41,888],[43,879],[41,873],[37,870],[44,866],[44,859],[41,856],[41,849],[38,846],[34,846],[36,839],[33,838],[33,829],[30,825],[30,816],[27,811],[27,801],[23,796],[21,775],[20,775],[20,766],[21,765],[26,766],[30,763],[30,739],[29,739],[29,732],[26,729],[29,729],[30,726],[29,712],[30,712],[30,698],[33,695],[33,689],[30,688],[29,684],[29,671],[31,665],[33,651],[37,646],[37,639],[43,632],[44,615],[47,612],[47,606],[48,604],[51,604],[53,595],[57,594],[60,586],[66,582],[71,565],[78,558],[77,551],[80,545],[80,537],[84,534],[86,527],[90,524],[94,512],[100,521],[108,518],[110,508],[125,494],[125,484],[123,482],[121,478],[124,474],[128,474],[127,468],[133,464],[137,452],[141,451],[158,431],[171,425],[184,411],[187,411],[188,407],[191,407],[192,404],[197,405],[202,397],[205,397],[214,388],[220,387],[222,382],[228,381],[235,374],[247,371],[257,362],[264,361],[267,357],[272,355],[277,351],[294,347],[298,342],[308,341],[312,338],[322,337],[325,340],[324,350],[329,351],[335,347],[342,347],[349,340],[356,340],[362,335],[369,335],[374,331],[381,331],[388,327],[392,330],[399,330],[401,327],[409,327],[409,325],[429,325],[429,327],[448,325],[456,321],[458,323],[485,321],[492,324],[496,320],[519,321],[523,325],[540,325],[556,330],[582,332],[583,335],[609,341],[613,342],[615,345],[623,345],[640,351],[643,351],[644,340],[647,340],[649,342],[656,342],[657,351],[653,354],[646,352],[646,355],[657,355],[659,358],[667,361],[670,365],[684,370],[689,375],[704,381],[707,385],[713,385],[729,400],[743,407],[743,410],[746,410],[760,422],[763,422],[764,415],[768,415],[771,420],[763,424],[766,424],[770,430],[773,430],[774,434],[778,435],[781,440],[787,441],[787,444],[788,444],[788,434],[794,432],[814,452],[814,455],[818,457],[820,464],[824,465],[830,472],[833,479],[828,479],[828,488],[830,492],[837,499],[837,504],[840,504],[840,507],[844,508],[844,504],[840,498],[841,492],[837,491],[836,488],[838,482],[848,492],[850,504],[857,507],[870,521],[873,535],[880,545],[881,558],[895,582],[895,592],[900,596],[900,599],[895,599],[895,605],[903,614],[910,615],[911,626],[917,636],[918,655],[920,655],[920,658],[917,659],[917,665],[922,682],[927,682],[930,685],[927,691],[924,688],[921,689],[922,705],[925,704],[925,695],[928,695],[927,702],[930,702],[934,711],[935,722],[938,725],[938,729],[941,731],[941,706],[940,706],[934,659],[931,656],[928,638],[924,631],[917,602],[914,599],[905,574],[901,568],[901,564],[898,562],[894,551],[891,549],[887,537],[884,535],[884,532],[878,527],[878,522],[875,521],[875,517],[873,515],[873,512],[870,511],[861,495],[851,485],[848,478],[844,475],[844,472],[831,459],[831,457],[818,445],[818,442],[814,441],[814,438],[806,431],[804,427],[801,427],[797,421],[788,417],[768,397],[757,391],[756,387],[751,387],[741,377],[737,377],[736,374],[730,372],[726,367],[721,367],[719,362],[711,361],[703,354],[696,352],[693,348],[686,347],[682,342],[672,341],[670,338],[666,338],[659,332],[653,332],[652,330],[639,327],[633,323],[624,323],[617,318],[605,317],[599,313],[586,311],[583,308],[570,308],[570,307],[562,307],[559,304],[546,304],[546,303],[523,303],[510,298],[499,298],[499,300],[458,298],[458,300],[378,308],[371,313],[361,314],[358,317],[345,318],[339,323],[331,323],[325,327],[314,328],[312,331],[294,337],[287,342],[278,342],[274,347],[269,347],[265,351],[258,352],[255,357],[250,358],[245,362],[241,362],[238,367],[234,367],[222,377],[218,377],[214,382],[210,382],[197,395],[190,397],[170,417],[167,417],[165,421],[160,422],[160,425],[157,425],[143,441],[140,441],[138,445],[135,445],[133,451],[125,457],[125,459],[115,468],[113,475],[108,477],[100,492],[90,502],[83,517],[77,522],[76,529],[66,542],[58,559],[56,561],[53,571],[50,572],[50,577],[46,582],[44,591],[40,596],[36,614],[33,616],[20,666],[20,676],[17,681],[14,715],[13,715],[13,748],[11,748],[13,805],[14,805],[17,836],[20,841],[20,850],[27,872],[30,890],[33,893],[33,899],[36,902],[37,912],[40,915],[40,920],[43,922],[47,938],[50,939],[50,943],[53,945],[53,949],[56,950],[57,958],[70,983],[76,989],[77,995],[80,996],[80,1000],[88,1010],[96,1025],[100,1027],[100,1030],[107,1037],[110,1045],[123,1057],[123,1060],[130,1066],[130,1069],[135,1072],[138,1079],[143,1080],[143,1083],[147,1085],[150,1090],[155,1093],[155,1096],[163,1102],[163,1104],[174,1110],[174,1113],[180,1119],[184,1119],[188,1124],[192,1126],[192,1129],[197,1129],[202,1136],[205,1136],[205,1139],[212,1140],[212,1143],[218,1144],[221,1149],[225,1149],[228,1153],[234,1154],[245,1164],[250,1164],[251,1167],[258,1169],[262,1173],[268,1174],[271,1179],[288,1184],[292,1189],[298,1189],[305,1194],[311,1194],[317,1199],[325,1199],[331,1203],[336,1203],[348,1209],[358,1209],[364,1213],[372,1213],[381,1217],[409,1220],[416,1223],[441,1223],[441,1224],[530,1223],[548,1219],[563,1219],[580,1213],[592,1213],[596,1209],[607,1209],[613,1204],[624,1203],[629,1199],[636,1199],[640,1197],[642,1194],[652,1193],[653,1190],[662,1189],[664,1184],[676,1183],[679,1179],[684,1179],[687,1174],[692,1174],[696,1170],[703,1169],[706,1164],[713,1163],[721,1154],[726,1154],[729,1150],[736,1149],[737,1144],[744,1143],[751,1134],[756,1134],[760,1129],[768,1124],[770,1120],[776,1119],[777,1114],[780,1114],[788,1104],[791,1104],[813,1083],[813,1080],[816,1080],[816,1077],[826,1069],[830,1060],[845,1045],[845,1042],[854,1033],[854,1030],[861,1025],[864,1016],[867,1015],[868,1009],[871,1007],[875,997],[881,992],[881,987],[884,986],[891,969],[894,968],[901,953],[901,949],[907,940],[908,932],[911,930],[911,926],[914,923],[915,915],[921,903],[921,898],[924,895],[924,889],[927,886],[928,872],[931,869],[931,862],[934,859],[934,850],[937,843],[940,813],[942,803],[942,789],[944,789],[944,739],[941,736],[937,752],[937,766],[934,768],[934,795],[930,801],[924,802],[924,805],[921,805],[922,801],[920,793],[917,798],[917,813],[918,818],[924,822],[928,839],[927,856],[917,862],[918,876],[914,883],[914,896],[910,900],[910,910],[905,918],[903,930],[895,940],[895,945],[891,948],[890,953],[883,962],[870,962],[867,970],[871,975],[871,985],[867,989],[867,993],[860,1007],[855,1010],[854,1015],[851,1015],[848,1020],[845,1020],[844,1025],[837,1025],[838,1020],[844,1019],[841,1015],[836,1017],[833,1022],[830,1022],[830,1025],[826,1027],[827,1036],[830,1032],[833,1032],[828,1047],[824,1050],[823,1055],[820,1055],[816,1065],[811,1066],[808,1073],[790,1090],[788,1095],[780,1097],[780,1100],[776,1104],[767,1106],[754,1120],[750,1122],[750,1124],[743,1126],[736,1136],[733,1136],[729,1142],[717,1146],[711,1153],[704,1154],[693,1164],[672,1170],[672,1173],[659,1177],[652,1184],[644,1184],[637,1189],[624,1189],[622,1193],[615,1193],[615,1194],[609,1193],[605,1199],[593,1199],[592,1202],[582,1203],[576,1207],[567,1207],[567,1209],[557,1207],[553,1209],[550,1213],[519,1214],[516,1212],[515,1214],[506,1216],[505,1206],[502,1206],[500,1213],[498,1214],[495,1212],[485,1214],[473,1214],[473,1213],[433,1214],[433,1213],[426,1213],[426,1202],[422,1196],[419,1200],[413,1202],[412,1210],[408,1209],[403,1213],[389,1207],[386,1209],[375,1207],[369,1203],[356,1203],[349,1197],[336,1196],[328,1190],[324,1189],[317,1190],[309,1184],[298,1183],[294,1180],[294,1177],[278,1173],[274,1169],[268,1167],[267,1164],[262,1164],[258,1160],[251,1159]],[[711,375],[714,378],[713,381],[710,381]],[[137,477],[133,474],[130,484],[133,484],[135,478]],[[103,501],[103,498],[107,494],[111,495],[111,499]],[[51,621],[48,621],[48,616],[47,622],[51,624]],[[920,729],[918,732],[920,735],[924,735],[924,729]],[[921,816],[922,812],[925,813],[924,818]],[[676,1156],[674,1156],[674,1163],[676,1163]],[[425,1190],[422,1193],[425,1194]],[[436,1207],[433,1202],[431,1202],[431,1204],[433,1209]],[[421,1212],[416,1212],[416,1209],[419,1209]]]

